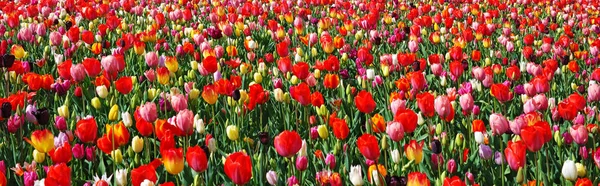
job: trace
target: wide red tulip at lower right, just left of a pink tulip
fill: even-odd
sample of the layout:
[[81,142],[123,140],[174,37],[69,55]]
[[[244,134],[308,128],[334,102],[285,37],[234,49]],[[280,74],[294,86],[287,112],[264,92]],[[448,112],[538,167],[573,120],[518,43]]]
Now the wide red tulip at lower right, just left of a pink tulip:
[[534,125],[528,125],[521,129],[521,138],[531,152],[537,152],[544,143],[552,140],[550,125],[545,121],[538,121]]

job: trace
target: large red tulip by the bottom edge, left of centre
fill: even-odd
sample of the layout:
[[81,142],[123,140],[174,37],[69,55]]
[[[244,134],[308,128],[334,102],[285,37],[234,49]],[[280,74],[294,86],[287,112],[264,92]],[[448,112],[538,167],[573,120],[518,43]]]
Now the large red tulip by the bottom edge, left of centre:
[[244,152],[233,153],[225,159],[224,171],[227,177],[238,185],[246,184],[252,178],[252,161]]

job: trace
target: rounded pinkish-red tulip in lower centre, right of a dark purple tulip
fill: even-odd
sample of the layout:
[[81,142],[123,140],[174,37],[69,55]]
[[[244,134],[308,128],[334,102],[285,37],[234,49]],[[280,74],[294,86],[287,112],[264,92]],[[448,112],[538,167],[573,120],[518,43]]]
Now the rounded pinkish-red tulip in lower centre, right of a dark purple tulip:
[[294,156],[302,147],[302,138],[296,131],[285,130],[275,137],[273,146],[283,157]]

